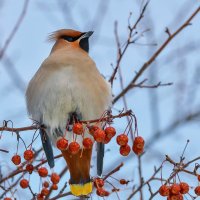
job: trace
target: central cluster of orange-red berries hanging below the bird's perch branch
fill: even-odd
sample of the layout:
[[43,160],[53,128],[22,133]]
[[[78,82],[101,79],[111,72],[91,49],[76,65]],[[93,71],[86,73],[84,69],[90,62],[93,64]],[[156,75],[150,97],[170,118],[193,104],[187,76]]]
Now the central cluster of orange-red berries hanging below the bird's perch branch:
[[[102,142],[104,144],[108,144],[116,135],[116,130],[112,126],[106,127],[105,130],[102,130],[96,125],[88,126],[87,128],[96,142]],[[84,128],[81,123],[75,123],[72,130],[74,134],[84,136]],[[128,156],[131,151],[131,147],[128,145],[128,140],[128,135],[125,133],[118,135],[116,138],[117,144],[120,145],[119,151],[122,156]],[[136,155],[143,153],[144,143],[145,142],[142,137],[135,137],[132,150]],[[84,149],[91,149],[93,141],[91,138],[83,138],[82,144]],[[68,148],[68,151],[71,154],[77,154],[80,150],[80,145],[76,141],[73,141],[68,145],[68,140],[63,137],[57,141],[57,148],[62,151]]]

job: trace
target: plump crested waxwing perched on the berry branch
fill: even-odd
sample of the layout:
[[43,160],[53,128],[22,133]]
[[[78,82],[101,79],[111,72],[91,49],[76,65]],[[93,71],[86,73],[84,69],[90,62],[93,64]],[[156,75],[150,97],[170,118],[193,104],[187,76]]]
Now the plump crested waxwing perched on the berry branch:
[[[54,32],[50,39],[55,44],[50,55],[31,79],[26,102],[30,118],[44,126],[40,130],[43,149],[48,164],[54,167],[52,144],[60,137],[72,142],[74,137],[66,127],[73,119],[98,119],[111,106],[111,87],[101,76],[94,61],[88,55],[89,37],[93,32],[62,29]],[[84,133],[84,137],[93,137]],[[83,137],[77,135],[76,142],[82,146]],[[97,157],[98,174],[102,173],[103,146]],[[62,151],[69,171],[70,189],[76,196],[92,192],[90,161],[92,150],[80,150],[72,155]]]

